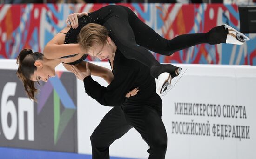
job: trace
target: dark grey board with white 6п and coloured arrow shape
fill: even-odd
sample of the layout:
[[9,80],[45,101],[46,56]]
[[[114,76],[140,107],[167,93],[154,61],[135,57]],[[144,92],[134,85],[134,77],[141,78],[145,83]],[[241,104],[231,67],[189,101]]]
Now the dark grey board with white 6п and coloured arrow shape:
[[73,73],[40,82],[37,103],[26,96],[15,70],[0,75],[0,146],[77,152]]

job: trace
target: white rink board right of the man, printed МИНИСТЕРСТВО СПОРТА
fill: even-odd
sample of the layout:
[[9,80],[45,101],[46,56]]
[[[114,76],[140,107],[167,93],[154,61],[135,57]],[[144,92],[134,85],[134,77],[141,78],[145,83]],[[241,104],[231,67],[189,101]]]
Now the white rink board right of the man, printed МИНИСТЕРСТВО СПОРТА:
[[162,97],[168,159],[255,159],[256,68],[193,65]]

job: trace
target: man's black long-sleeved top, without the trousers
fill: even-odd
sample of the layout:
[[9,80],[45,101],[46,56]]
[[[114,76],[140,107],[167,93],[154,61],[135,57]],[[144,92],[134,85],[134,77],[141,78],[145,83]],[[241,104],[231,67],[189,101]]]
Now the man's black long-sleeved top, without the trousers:
[[[121,106],[122,104],[147,104],[162,110],[161,98],[155,92],[155,79],[149,68],[140,62],[125,58],[117,49],[113,61],[114,79],[107,86],[101,86],[91,76],[84,78],[86,93],[101,105]],[[128,91],[139,88],[139,93],[126,98]],[[161,111],[162,112],[162,111]]]

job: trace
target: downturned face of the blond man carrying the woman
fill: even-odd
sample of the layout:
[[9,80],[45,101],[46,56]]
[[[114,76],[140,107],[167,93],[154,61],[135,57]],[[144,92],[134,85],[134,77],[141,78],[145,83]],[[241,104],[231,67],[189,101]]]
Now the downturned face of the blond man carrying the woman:
[[111,43],[111,39],[108,37],[104,46],[100,44],[94,44],[93,49],[88,51],[90,56],[95,56],[100,60],[111,59],[114,56],[115,48]]

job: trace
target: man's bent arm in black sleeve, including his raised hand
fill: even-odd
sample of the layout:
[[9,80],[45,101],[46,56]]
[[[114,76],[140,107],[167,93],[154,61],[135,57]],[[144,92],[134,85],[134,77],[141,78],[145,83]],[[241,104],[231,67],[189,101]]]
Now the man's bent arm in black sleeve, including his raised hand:
[[108,87],[104,87],[92,79],[88,66],[86,72],[81,72],[72,66],[72,72],[77,78],[83,80],[86,93],[105,106],[120,106],[126,93],[131,90],[138,74],[137,69],[132,65],[131,68],[119,66],[115,68],[115,78]]

